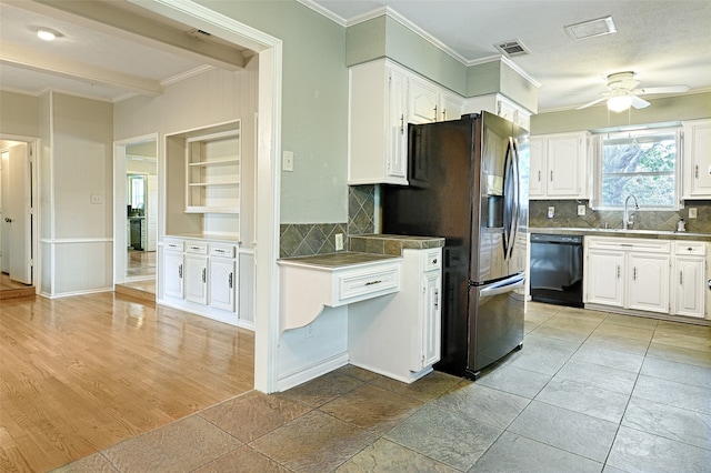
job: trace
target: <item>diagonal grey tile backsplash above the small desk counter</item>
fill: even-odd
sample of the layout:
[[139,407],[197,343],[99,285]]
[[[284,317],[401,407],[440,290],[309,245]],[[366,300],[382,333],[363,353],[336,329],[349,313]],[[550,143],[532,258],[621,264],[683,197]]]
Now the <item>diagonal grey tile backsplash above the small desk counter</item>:
[[282,223],[279,229],[279,258],[332,253],[337,233],[343,234],[348,250],[349,235],[373,233],[374,194],[374,185],[349,187],[347,223]]

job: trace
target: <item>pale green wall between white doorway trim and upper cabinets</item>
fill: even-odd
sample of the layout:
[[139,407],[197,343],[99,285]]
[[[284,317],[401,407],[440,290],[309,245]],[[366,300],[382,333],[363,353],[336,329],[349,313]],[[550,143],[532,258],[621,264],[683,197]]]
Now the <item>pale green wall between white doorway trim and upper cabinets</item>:
[[198,0],[283,41],[281,222],[347,222],[346,28],[293,0]]

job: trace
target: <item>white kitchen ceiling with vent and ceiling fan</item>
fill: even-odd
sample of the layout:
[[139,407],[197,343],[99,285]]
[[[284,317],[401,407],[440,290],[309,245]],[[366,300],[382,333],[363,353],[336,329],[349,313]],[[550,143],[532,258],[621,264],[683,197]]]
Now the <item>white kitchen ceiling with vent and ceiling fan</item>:
[[[631,70],[641,87],[711,90],[711,1],[304,0],[352,24],[388,7],[464,63],[518,39],[511,60],[540,83],[539,111],[574,108],[605,90],[603,77]],[[612,16],[615,34],[572,41],[564,26]],[[653,98],[653,97],[652,97]]]

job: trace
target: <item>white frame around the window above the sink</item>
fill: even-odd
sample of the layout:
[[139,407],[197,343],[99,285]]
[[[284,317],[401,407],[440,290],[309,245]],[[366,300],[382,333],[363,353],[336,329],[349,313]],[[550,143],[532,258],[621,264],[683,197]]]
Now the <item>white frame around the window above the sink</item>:
[[[682,161],[683,161],[683,141],[682,141],[682,127],[681,125],[665,125],[659,128],[648,128],[642,130],[627,130],[627,131],[604,131],[598,132],[592,135],[592,157],[593,157],[593,189],[591,208],[599,211],[619,211],[624,205],[602,205],[602,158],[603,158],[603,144],[605,140],[610,139],[629,139],[629,138],[642,138],[649,135],[660,134],[673,134],[677,142],[677,159],[674,160],[674,194],[673,204],[669,207],[664,205],[640,205],[637,212],[644,211],[679,211],[683,208],[681,202],[682,191]],[[640,173],[642,174],[642,173]]]

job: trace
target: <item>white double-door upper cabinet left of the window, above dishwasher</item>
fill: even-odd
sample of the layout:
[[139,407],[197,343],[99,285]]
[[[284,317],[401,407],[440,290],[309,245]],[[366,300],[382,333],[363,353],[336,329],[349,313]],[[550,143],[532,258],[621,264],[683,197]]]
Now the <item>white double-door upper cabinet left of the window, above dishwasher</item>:
[[587,133],[531,137],[529,198],[588,199]]

